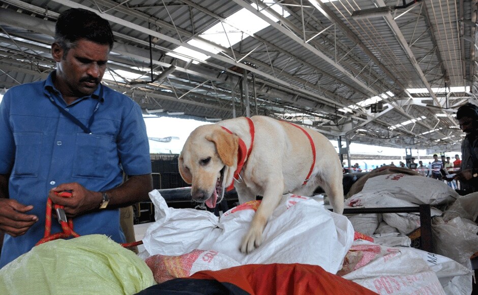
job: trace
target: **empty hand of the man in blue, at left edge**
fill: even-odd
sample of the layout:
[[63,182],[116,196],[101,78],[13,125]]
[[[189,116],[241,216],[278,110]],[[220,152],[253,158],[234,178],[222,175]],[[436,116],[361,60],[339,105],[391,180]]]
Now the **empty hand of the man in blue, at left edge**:
[[0,198],[0,229],[12,237],[24,234],[38,221],[36,215],[26,214],[32,209],[32,205],[23,205],[14,199]]

